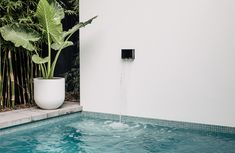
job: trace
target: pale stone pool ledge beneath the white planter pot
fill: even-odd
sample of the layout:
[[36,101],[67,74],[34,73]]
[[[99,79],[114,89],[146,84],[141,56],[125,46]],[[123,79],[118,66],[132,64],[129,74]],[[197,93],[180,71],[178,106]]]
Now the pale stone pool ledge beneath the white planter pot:
[[59,109],[38,107],[0,112],[0,129],[82,111],[78,102],[65,102]]

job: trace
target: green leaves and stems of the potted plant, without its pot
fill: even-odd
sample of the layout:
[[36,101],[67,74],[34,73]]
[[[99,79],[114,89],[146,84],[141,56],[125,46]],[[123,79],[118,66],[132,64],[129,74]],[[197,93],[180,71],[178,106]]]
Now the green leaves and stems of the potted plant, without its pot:
[[[40,64],[43,77],[45,79],[51,79],[54,76],[55,66],[56,66],[56,63],[57,63],[57,60],[61,51],[64,48],[72,45],[72,42],[68,41],[69,38],[81,27],[85,27],[87,24],[90,24],[93,21],[93,19],[96,18],[96,16],[86,22],[81,22],[81,23],[76,24],[74,27],[72,27],[68,31],[63,31],[61,20],[64,18],[64,9],[62,8],[62,6],[55,0],[51,0],[50,3],[47,0],[40,0],[37,5],[36,17],[39,21],[37,24],[41,26],[41,38],[46,38],[47,40],[48,57],[46,58],[49,60],[46,61],[46,60],[42,60],[45,58],[42,58],[42,57],[39,58],[39,54],[37,50],[34,49],[35,51],[34,57],[37,57],[36,58],[37,60],[34,59],[33,61],[36,64]],[[19,29],[23,29],[23,28],[25,27],[22,27],[21,25],[19,25]],[[16,29],[14,28],[11,28],[10,30],[12,31],[11,33],[17,33],[17,31],[15,31]],[[2,33],[2,36],[3,36],[4,32],[2,31],[4,31],[4,27],[0,29],[0,32]],[[24,37],[25,35],[35,35],[35,33],[36,31],[20,30],[20,32],[18,32],[17,34],[19,35],[19,37]],[[5,40],[9,40],[15,43],[16,47],[22,46],[28,50],[33,49],[32,43],[31,43],[32,40],[17,41],[12,37],[7,37],[7,38],[8,39],[5,39],[4,37]],[[51,48],[57,50],[57,53],[53,62],[51,62]],[[45,65],[46,63],[47,63],[47,66]]]

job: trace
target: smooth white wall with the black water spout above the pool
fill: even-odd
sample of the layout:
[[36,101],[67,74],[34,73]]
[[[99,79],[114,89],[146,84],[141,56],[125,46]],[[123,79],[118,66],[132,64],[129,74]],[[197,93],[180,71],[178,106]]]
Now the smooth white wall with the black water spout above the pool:
[[[234,6],[80,0],[81,20],[99,16],[80,30],[84,110],[235,127]],[[136,50],[134,62],[122,48]]]

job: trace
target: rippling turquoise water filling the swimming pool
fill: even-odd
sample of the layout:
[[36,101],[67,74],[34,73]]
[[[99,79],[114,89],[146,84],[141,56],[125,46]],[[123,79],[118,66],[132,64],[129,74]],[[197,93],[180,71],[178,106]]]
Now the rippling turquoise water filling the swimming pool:
[[[235,153],[235,134],[83,116],[0,136],[1,153]],[[17,129],[16,128],[16,129]]]

